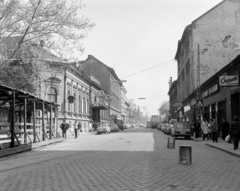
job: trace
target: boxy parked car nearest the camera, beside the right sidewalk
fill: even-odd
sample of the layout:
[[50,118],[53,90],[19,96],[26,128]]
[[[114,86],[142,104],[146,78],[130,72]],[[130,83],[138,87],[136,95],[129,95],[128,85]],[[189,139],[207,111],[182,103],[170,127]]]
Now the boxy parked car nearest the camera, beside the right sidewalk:
[[189,123],[175,123],[171,131],[171,136],[185,137],[185,139],[190,139],[191,129]]

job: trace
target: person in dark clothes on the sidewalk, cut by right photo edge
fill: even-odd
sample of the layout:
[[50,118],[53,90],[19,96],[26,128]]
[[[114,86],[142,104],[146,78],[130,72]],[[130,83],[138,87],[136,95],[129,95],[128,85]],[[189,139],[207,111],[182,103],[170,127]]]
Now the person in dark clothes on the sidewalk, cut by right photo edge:
[[239,118],[235,116],[233,122],[229,129],[229,135],[233,140],[233,149],[238,149],[239,139],[240,139],[240,122]]

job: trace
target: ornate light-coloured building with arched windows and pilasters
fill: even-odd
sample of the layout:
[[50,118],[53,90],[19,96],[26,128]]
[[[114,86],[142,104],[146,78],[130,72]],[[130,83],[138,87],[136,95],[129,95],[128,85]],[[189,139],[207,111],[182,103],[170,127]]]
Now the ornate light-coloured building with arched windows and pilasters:
[[[100,110],[108,110],[108,97],[93,75],[85,76],[76,63],[51,63],[44,72],[41,96],[59,104],[59,124],[66,120],[71,126],[81,124],[83,132],[89,132],[90,122],[107,122]],[[106,103],[107,102],[107,103]]]

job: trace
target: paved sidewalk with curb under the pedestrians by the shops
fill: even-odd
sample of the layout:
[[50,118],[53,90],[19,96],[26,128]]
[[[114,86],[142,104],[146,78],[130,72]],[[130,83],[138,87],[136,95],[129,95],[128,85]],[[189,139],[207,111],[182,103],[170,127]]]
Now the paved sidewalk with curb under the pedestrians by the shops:
[[[231,155],[234,155],[236,157],[239,157],[240,158],[240,147],[239,149],[237,150],[234,150],[233,149],[233,144],[231,143],[227,143],[225,142],[224,140],[222,140],[222,138],[218,138],[218,143],[216,142],[213,142],[212,140],[209,140],[209,141],[203,141],[202,138],[194,138],[192,137],[192,140],[196,141],[196,142],[201,142],[201,143],[205,143],[205,145],[209,146],[209,147],[212,147],[212,148],[215,148],[215,149],[218,149],[218,150],[221,150],[223,152],[226,152],[228,154],[231,154]],[[240,146],[240,145],[239,145]]]

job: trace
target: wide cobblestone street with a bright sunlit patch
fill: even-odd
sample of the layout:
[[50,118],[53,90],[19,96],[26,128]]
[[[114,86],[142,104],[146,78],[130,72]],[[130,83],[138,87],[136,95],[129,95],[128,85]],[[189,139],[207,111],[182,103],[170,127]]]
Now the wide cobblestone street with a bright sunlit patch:
[[[240,159],[205,142],[155,129],[80,135],[31,152],[0,158],[1,191],[237,191]],[[179,145],[191,145],[193,163],[179,164]]]

